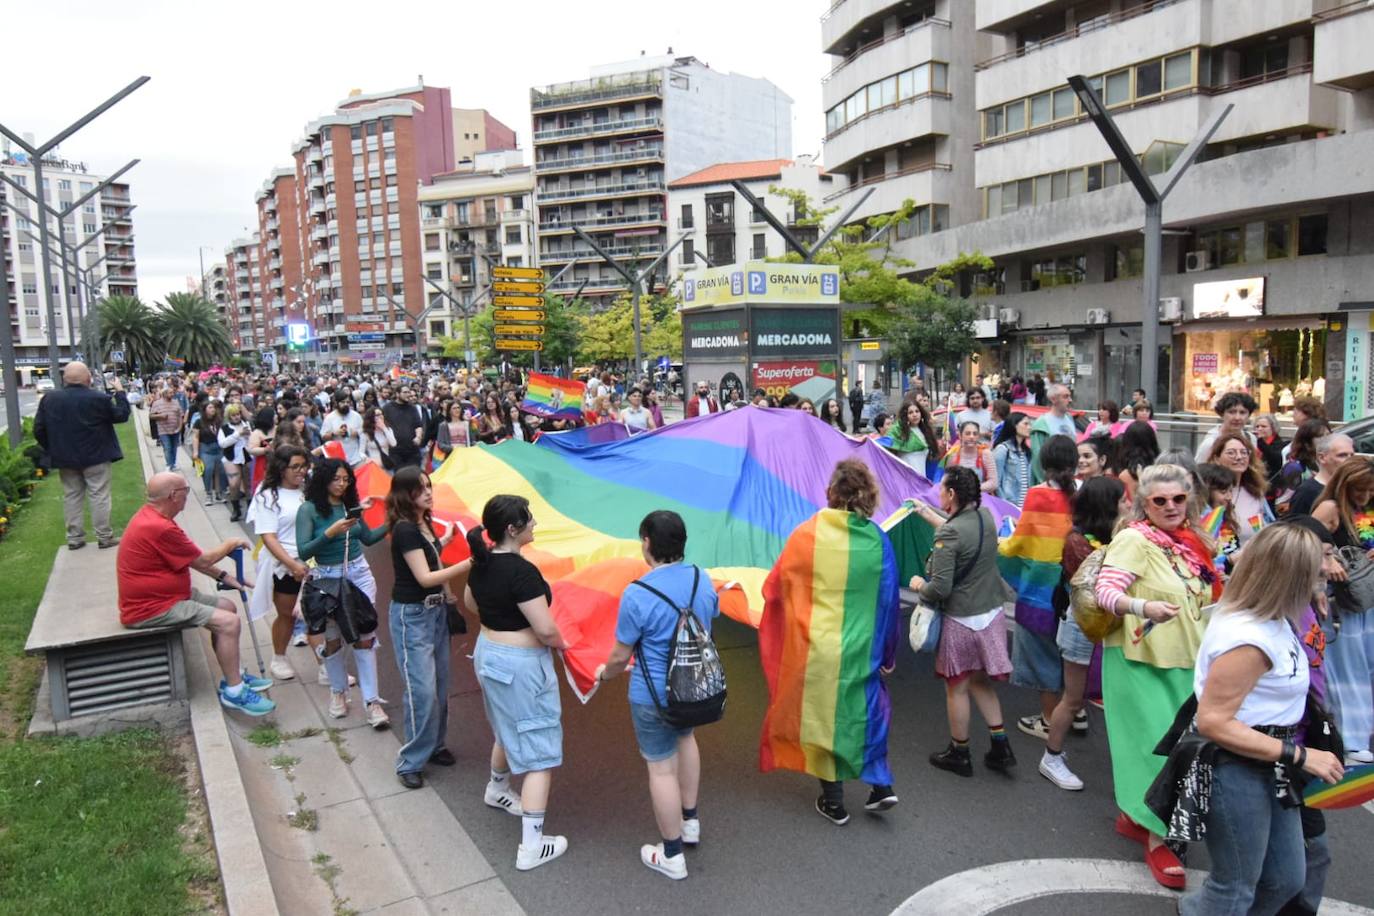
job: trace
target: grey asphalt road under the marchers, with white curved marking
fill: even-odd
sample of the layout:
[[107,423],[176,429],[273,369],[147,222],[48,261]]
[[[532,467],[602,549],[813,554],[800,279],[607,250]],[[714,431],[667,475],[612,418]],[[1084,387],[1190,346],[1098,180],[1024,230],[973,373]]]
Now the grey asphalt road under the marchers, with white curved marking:
[[[368,553],[378,580],[385,633],[390,556]],[[452,643],[453,683],[449,769],[431,768],[430,784],[529,913],[661,912],[669,902],[698,912],[890,913],[943,878],[996,862],[1029,858],[1107,858],[1139,862],[1139,847],[1112,827],[1110,759],[1102,713],[1090,709],[1092,731],[1070,737],[1081,792],[1065,792],[1036,772],[1043,746],[1014,731],[1017,715],[1035,711],[1029,691],[1002,687],[1011,743],[1020,758],[1013,776],[981,766],[987,736],[974,731],[976,775],[960,779],[933,769],[926,757],[947,742],[944,691],[927,658],[903,647],[889,680],[893,722],[889,744],[901,798],[886,816],[863,813],[867,787],[851,784],[851,823],[835,827],[816,814],[811,777],[758,772],[758,728],[767,691],[754,632],[723,619],[717,644],[730,680],[725,720],[698,732],[702,751],[701,847],[687,854],[690,880],[669,882],[639,862],[639,846],[657,842],[643,761],[635,746],[625,681],[606,685],[583,706],[563,688],[563,766],[554,776],[547,829],[569,838],[569,851],[533,872],[515,871],[519,823],[482,803],[491,729],[469,658],[475,633]],[[383,637],[385,640],[385,637]],[[381,652],[382,695],[393,700],[400,726],[400,677],[392,652]],[[1355,809],[1329,817],[1334,862],[1327,897],[1374,906],[1374,814]],[[1201,846],[1190,868],[1206,869]],[[1142,865],[1143,868],[1143,865]],[[1048,873],[1050,869],[1046,869]],[[1070,871],[1069,884],[1074,883]],[[1124,889],[1123,889],[1124,890]],[[1043,897],[1002,912],[1061,916],[1095,912],[1136,916],[1175,912],[1173,898],[1139,894]]]

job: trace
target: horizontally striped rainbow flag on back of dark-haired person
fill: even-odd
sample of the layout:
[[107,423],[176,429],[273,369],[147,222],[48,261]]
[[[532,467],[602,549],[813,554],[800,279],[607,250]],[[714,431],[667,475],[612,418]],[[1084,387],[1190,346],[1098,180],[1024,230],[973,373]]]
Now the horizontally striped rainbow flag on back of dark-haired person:
[[1041,636],[1054,636],[1059,628],[1052,595],[1063,574],[1063,538],[1072,529],[1069,494],[1032,486],[1015,531],[998,549],[1002,578],[1017,592],[1017,623]]

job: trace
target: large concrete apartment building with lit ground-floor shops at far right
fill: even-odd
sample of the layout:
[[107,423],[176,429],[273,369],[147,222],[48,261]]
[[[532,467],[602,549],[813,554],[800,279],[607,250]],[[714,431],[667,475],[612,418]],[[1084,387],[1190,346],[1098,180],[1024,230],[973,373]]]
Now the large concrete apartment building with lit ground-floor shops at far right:
[[[980,218],[899,253],[993,258],[965,290],[985,309],[982,372],[1063,379],[1091,405],[1156,358],[1151,396],[1175,409],[1243,385],[1264,409],[1311,390],[1336,417],[1374,412],[1374,7],[978,0],[976,27]],[[1156,354],[1140,353],[1143,205],[1070,74],[1156,176],[1234,106],[1164,207]]]

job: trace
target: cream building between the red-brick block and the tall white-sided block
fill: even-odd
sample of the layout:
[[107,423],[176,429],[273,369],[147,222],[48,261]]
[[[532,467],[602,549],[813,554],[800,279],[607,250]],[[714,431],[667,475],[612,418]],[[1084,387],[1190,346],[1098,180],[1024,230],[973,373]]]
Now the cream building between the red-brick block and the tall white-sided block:
[[[464,306],[491,282],[491,266],[536,266],[534,170],[519,150],[478,152],[420,188],[425,276]],[[462,312],[426,284],[429,339],[462,332]],[[455,328],[458,328],[455,331]]]

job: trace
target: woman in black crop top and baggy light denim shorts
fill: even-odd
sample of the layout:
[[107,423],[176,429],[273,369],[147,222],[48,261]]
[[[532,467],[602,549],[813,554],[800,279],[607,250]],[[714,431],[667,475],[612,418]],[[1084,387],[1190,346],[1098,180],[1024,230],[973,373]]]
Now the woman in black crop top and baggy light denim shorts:
[[[484,529],[491,534],[488,547]],[[566,648],[548,608],[552,592],[533,563],[519,555],[534,540],[529,500],[493,496],[482,526],[467,533],[473,571],[463,592],[467,610],[482,621],[473,666],[482,687],[486,721],[496,735],[485,801],[521,813],[515,868],[529,871],[567,850],[562,836],[544,836],[552,770],[563,762],[562,706],[551,650]],[[510,805],[511,773],[525,773],[519,803]]]

